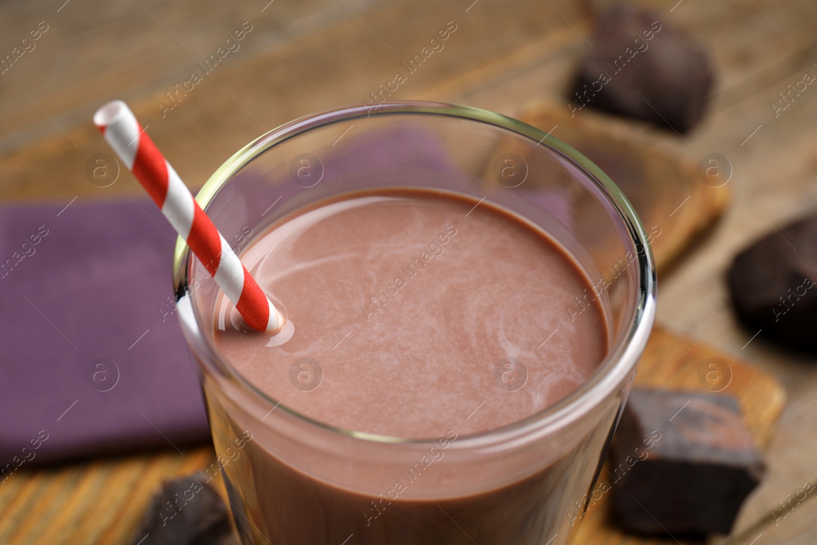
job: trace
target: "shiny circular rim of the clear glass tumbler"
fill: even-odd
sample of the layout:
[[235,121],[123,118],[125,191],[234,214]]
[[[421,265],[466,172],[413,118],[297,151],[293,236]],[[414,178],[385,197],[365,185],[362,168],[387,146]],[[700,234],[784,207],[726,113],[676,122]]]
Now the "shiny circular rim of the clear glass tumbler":
[[[199,206],[206,211],[208,204],[218,191],[221,190],[221,187],[230,181],[231,177],[234,176],[236,172],[239,172],[247,163],[275,145],[279,145],[283,141],[288,141],[304,132],[309,132],[310,130],[333,123],[378,115],[395,114],[442,115],[458,118],[461,121],[469,120],[486,123],[493,127],[499,127],[514,132],[517,135],[525,136],[537,142],[538,145],[545,146],[547,149],[558,154],[562,159],[569,161],[569,163],[587,177],[588,181],[596,184],[601,190],[601,193],[605,195],[609,203],[618,213],[618,218],[623,223],[623,226],[626,227],[630,241],[636,248],[638,248],[639,245],[641,245],[641,248],[644,248],[644,252],[636,252],[636,261],[634,261],[637,267],[638,286],[636,308],[633,312],[632,322],[629,324],[629,329],[623,339],[616,345],[610,346],[608,354],[605,356],[605,359],[600,362],[599,367],[592,376],[588,377],[587,381],[583,382],[576,390],[565,396],[565,398],[556,402],[556,404],[552,404],[542,409],[542,411],[538,411],[522,420],[511,422],[502,427],[458,437],[457,444],[459,448],[467,448],[468,446],[483,444],[486,441],[502,441],[503,438],[507,440],[510,437],[525,436],[535,431],[547,430],[554,423],[557,423],[560,427],[564,427],[562,422],[565,419],[572,422],[574,418],[578,418],[583,413],[596,407],[606,395],[615,391],[616,386],[626,379],[627,373],[631,373],[632,369],[635,368],[641,357],[641,353],[644,351],[654,323],[657,292],[657,279],[652,249],[650,248],[644,226],[632,208],[632,204],[609,176],[572,146],[560,141],[549,132],[544,132],[537,127],[533,127],[517,119],[471,106],[429,101],[363,103],[309,114],[284,123],[257,137],[233,154],[230,159],[227,159],[216,172],[213,172],[212,176],[210,176],[201,190],[199,190],[199,193],[196,194],[195,199],[199,203]],[[176,294],[176,302],[179,302],[182,297],[185,297],[185,290],[190,284],[192,258],[193,254],[190,252],[186,241],[181,239],[181,236],[178,237],[173,254],[173,288]],[[196,327],[199,328],[200,331],[202,324],[199,323],[199,317],[195,310],[193,310],[193,315]],[[187,328],[185,321],[180,320],[180,322],[181,328],[185,330],[185,328]],[[408,439],[398,436],[382,436],[365,431],[333,427],[315,418],[307,417],[304,414],[290,409],[287,405],[281,403],[280,400],[275,400],[270,397],[270,395],[266,395],[266,393],[259,390],[252,382],[249,382],[243,377],[232,364],[221,357],[221,354],[217,351],[215,346],[212,346],[212,342],[208,342],[203,335],[199,337],[203,340],[203,344],[208,351],[207,357],[210,358],[210,360],[217,361],[221,369],[227,370],[230,374],[230,380],[238,382],[239,386],[251,392],[268,406],[283,409],[288,415],[310,426],[316,426],[323,431],[333,432],[342,436],[377,443],[429,445],[440,439],[439,437]]]

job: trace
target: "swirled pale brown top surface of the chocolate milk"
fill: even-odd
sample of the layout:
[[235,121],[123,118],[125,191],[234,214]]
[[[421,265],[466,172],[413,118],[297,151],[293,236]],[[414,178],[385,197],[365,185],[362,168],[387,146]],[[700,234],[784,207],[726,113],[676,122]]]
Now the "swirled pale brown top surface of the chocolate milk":
[[[294,334],[275,346],[217,328],[218,348],[273,399],[353,431],[472,434],[544,410],[603,360],[605,321],[595,306],[571,321],[589,284],[560,248],[475,203],[384,190],[272,226],[242,261],[286,306]],[[223,316],[230,304],[219,307]],[[315,389],[290,380],[301,358],[322,369]],[[521,387],[502,382],[515,376],[508,359],[526,369]]]

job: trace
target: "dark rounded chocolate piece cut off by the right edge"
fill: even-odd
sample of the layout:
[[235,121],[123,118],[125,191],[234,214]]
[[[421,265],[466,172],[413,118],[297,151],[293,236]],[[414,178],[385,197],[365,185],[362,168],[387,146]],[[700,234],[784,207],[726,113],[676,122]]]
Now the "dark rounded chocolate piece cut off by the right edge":
[[817,351],[815,269],[817,216],[773,231],[740,252],[728,278],[741,321],[786,346]]

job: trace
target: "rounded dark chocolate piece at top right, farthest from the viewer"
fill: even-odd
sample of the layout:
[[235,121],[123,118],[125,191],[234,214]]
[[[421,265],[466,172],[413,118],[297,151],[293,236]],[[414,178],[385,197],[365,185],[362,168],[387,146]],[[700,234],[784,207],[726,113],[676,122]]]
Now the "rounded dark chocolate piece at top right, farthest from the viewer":
[[601,16],[578,69],[570,109],[585,105],[690,130],[712,87],[706,51],[647,11],[616,7]]

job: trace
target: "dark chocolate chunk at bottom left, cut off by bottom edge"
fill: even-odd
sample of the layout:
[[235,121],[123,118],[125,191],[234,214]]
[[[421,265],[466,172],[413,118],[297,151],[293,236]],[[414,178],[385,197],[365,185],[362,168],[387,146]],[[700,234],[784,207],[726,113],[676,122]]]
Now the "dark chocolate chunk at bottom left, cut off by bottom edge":
[[227,508],[200,473],[164,481],[150,501],[132,543],[238,545]]

